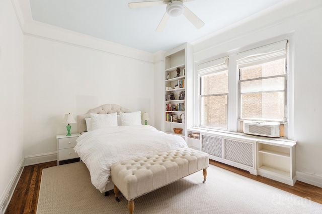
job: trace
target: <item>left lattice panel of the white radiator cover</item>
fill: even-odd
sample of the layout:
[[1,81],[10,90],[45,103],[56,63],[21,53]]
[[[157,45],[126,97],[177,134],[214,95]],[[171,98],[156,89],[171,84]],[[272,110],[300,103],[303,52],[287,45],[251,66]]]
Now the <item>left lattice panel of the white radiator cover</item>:
[[222,138],[202,135],[201,151],[222,158]]

